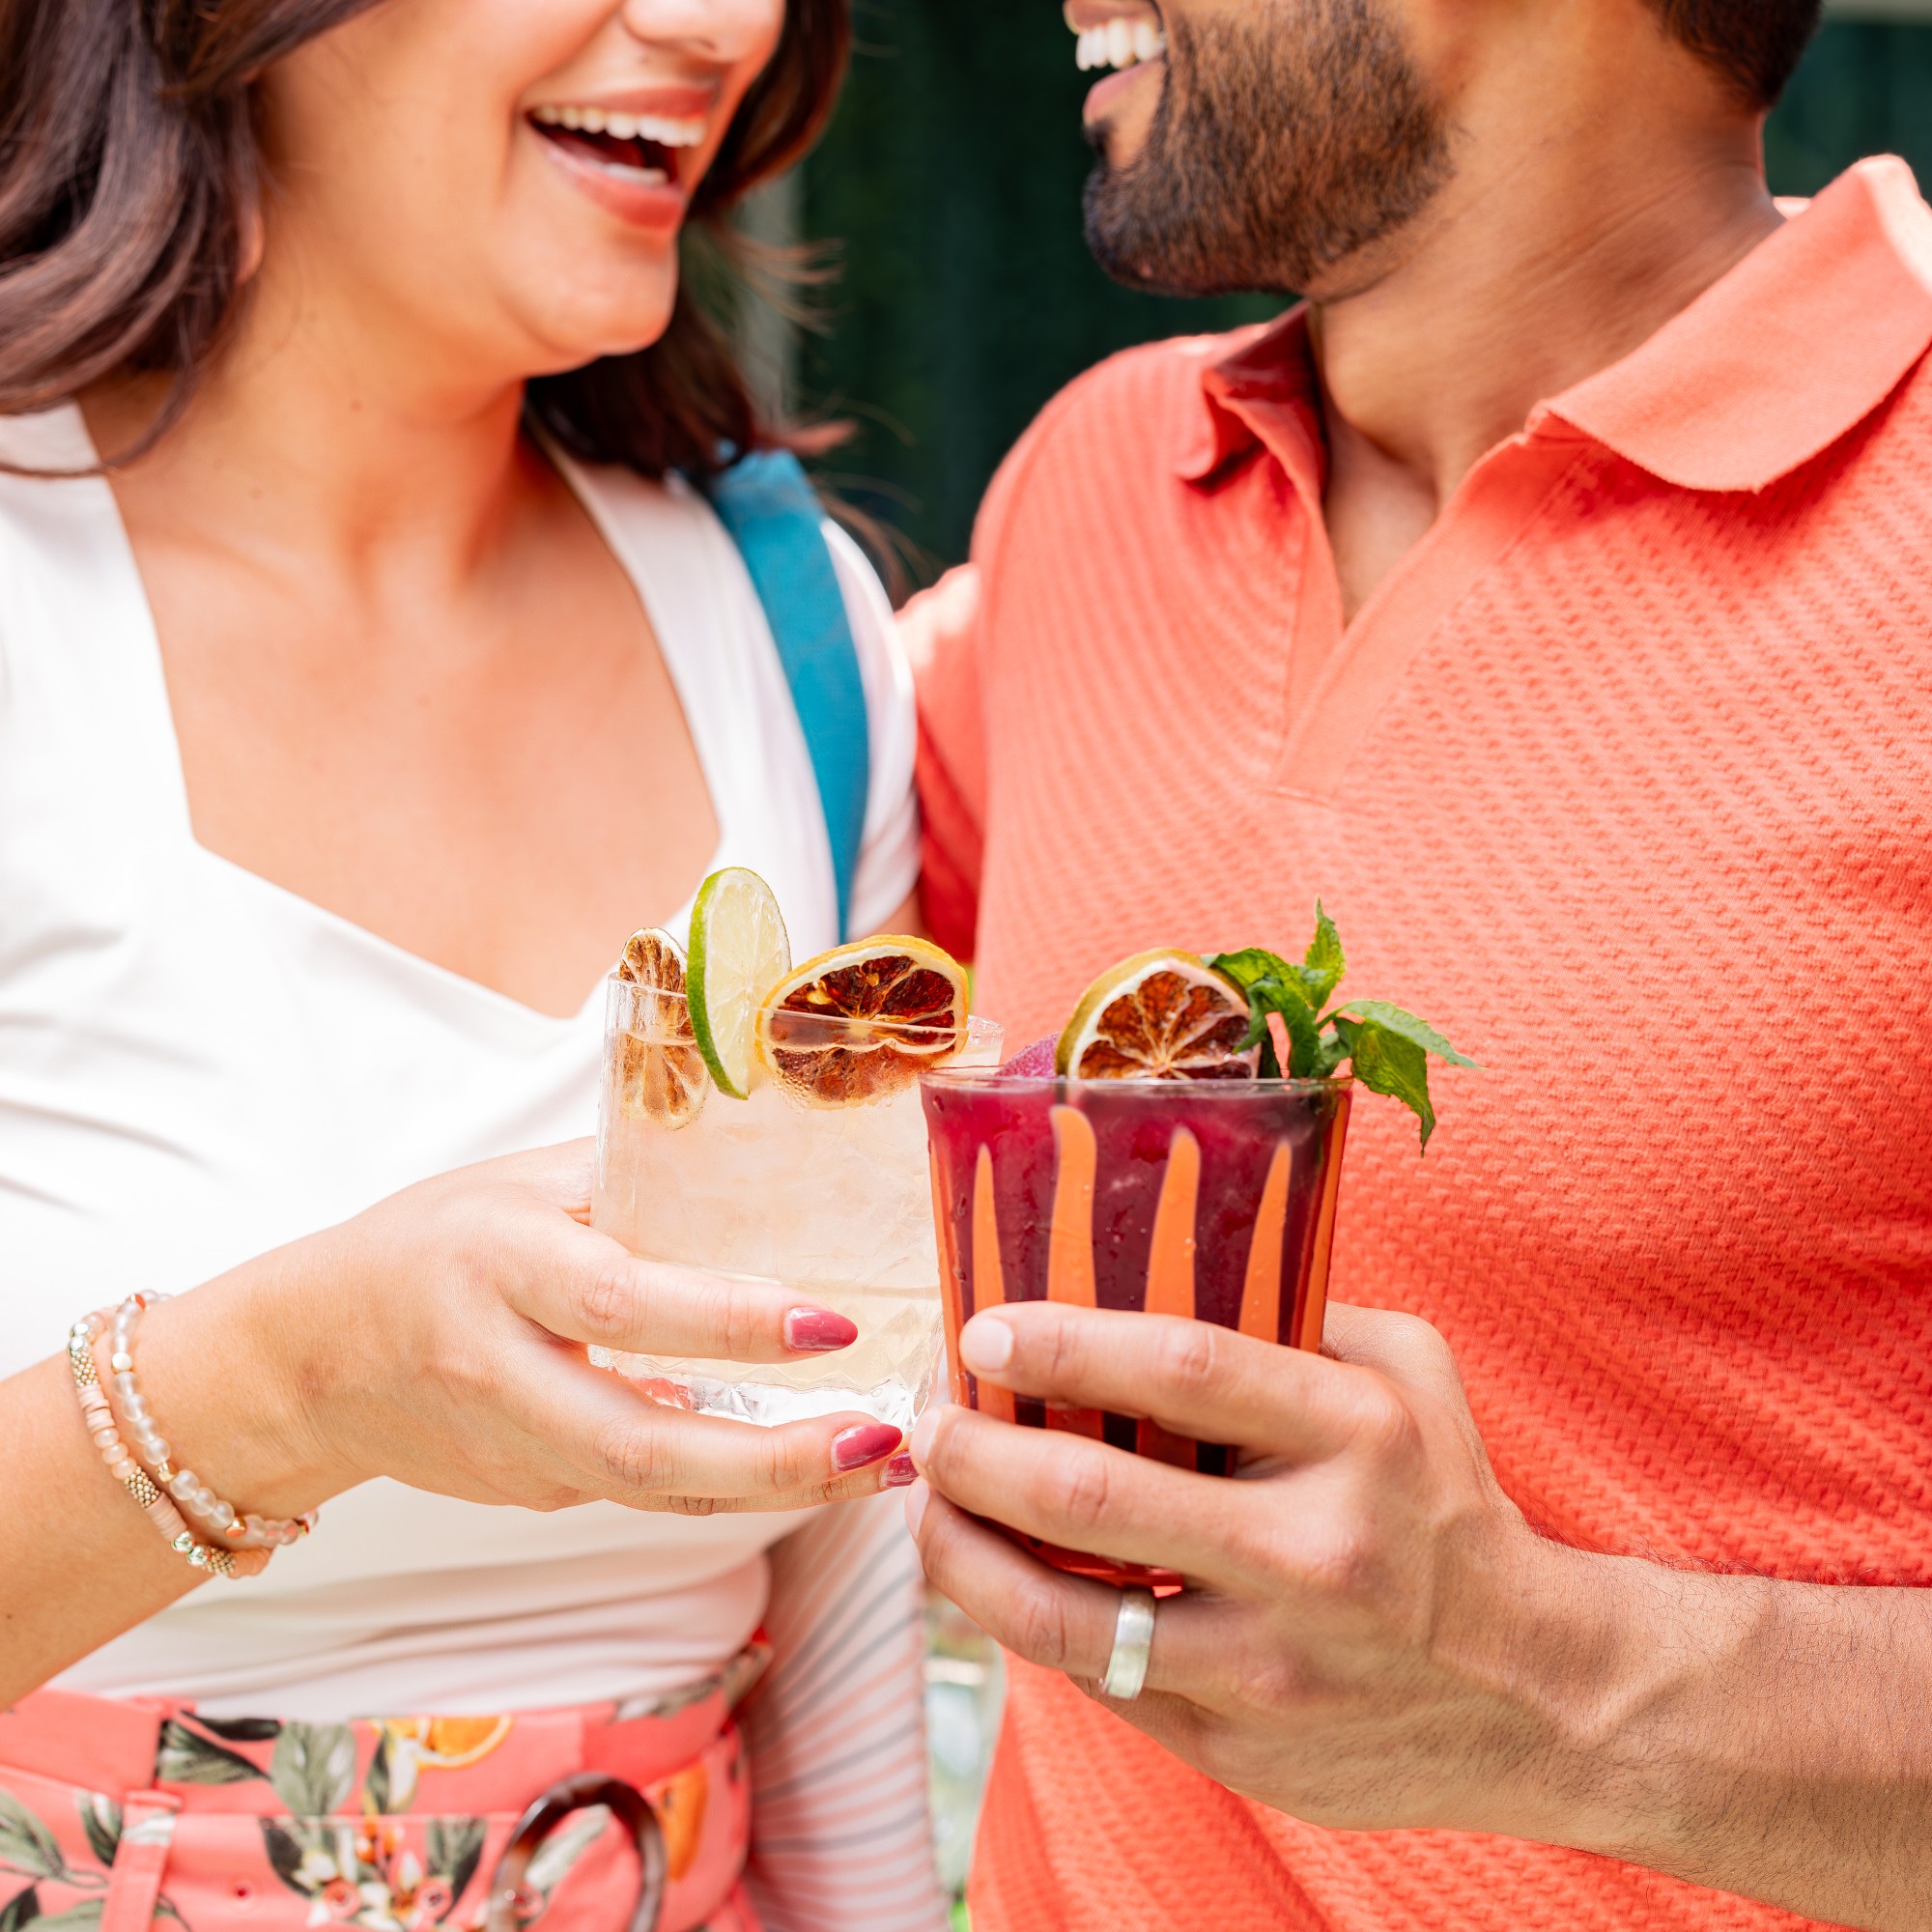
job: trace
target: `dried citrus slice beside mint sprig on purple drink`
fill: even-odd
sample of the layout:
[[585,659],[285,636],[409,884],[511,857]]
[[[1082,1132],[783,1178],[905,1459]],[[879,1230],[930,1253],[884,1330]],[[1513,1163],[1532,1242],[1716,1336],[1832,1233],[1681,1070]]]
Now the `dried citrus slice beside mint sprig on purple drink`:
[[1053,1065],[1080,1080],[1252,1080],[1248,997],[1194,952],[1136,952],[1082,995]]

